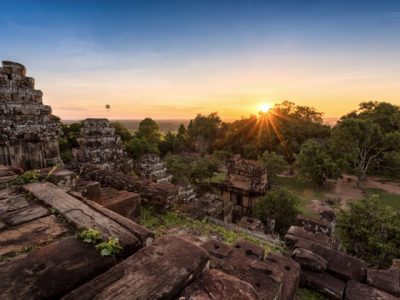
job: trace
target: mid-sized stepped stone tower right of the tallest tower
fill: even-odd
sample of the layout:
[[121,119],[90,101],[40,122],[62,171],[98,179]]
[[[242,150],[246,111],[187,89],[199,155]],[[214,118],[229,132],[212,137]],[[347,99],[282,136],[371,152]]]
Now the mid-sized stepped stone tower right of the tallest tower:
[[124,174],[133,169],[133,161],[107,119],[86,119],[78,143],[79,148],[73,149],[78,163],[90,163],[101,169]]

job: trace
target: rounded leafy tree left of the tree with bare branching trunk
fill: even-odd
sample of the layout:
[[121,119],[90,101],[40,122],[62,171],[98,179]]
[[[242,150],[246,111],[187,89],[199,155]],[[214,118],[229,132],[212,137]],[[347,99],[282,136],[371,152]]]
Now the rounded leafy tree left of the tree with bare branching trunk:
[[297,166],[300,174],[310,178],[317,186],[323,185],[328,178],[337,179],[341,174],[326,146],[316,140],[308,140],[301,146]]

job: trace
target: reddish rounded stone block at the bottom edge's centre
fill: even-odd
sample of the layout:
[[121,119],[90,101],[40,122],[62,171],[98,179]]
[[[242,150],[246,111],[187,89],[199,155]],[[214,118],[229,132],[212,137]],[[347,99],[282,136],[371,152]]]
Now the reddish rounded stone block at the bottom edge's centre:
[[180,299],[187,300],[258,300],[255,289],[247,282],[219,270],[206,271],[197,281],[189,285]]

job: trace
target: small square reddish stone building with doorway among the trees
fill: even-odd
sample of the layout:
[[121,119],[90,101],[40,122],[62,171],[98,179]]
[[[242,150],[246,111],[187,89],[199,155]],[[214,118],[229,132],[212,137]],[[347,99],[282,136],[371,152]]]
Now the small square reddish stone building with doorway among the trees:
[[268,188],[267,170],[256,161],[240,157],[228,161],[227,169],[227,178],[220,186],[223,198],[233,202],[238,207],[236,211],[251,215],[257,200]]

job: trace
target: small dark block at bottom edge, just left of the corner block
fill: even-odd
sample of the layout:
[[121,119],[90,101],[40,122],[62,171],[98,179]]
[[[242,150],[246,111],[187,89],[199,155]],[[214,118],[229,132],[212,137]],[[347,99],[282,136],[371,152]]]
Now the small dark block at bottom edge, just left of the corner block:
[[[328,273],[319,273],[309,270],[302,270],[300,276],[300,286],[306,286],[317,290],[328,299],[342,300],[346,288],[344,281]],[[359,298],[358,300],[361,300]]]

